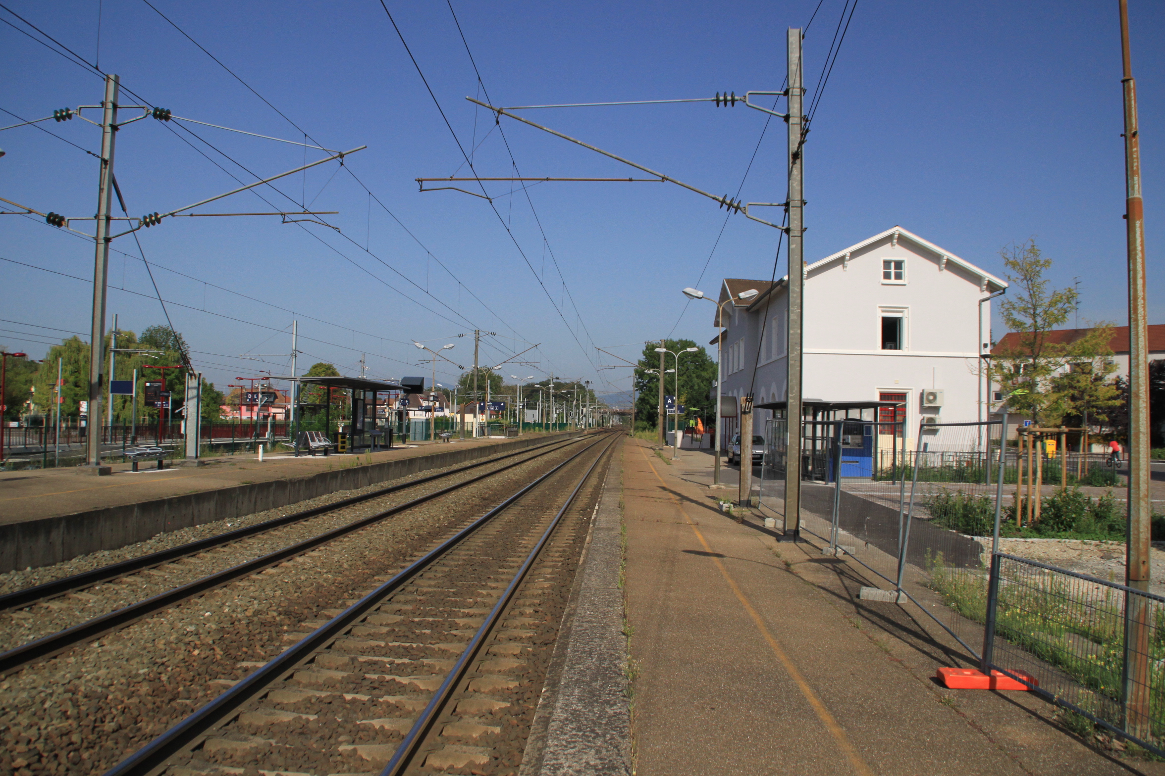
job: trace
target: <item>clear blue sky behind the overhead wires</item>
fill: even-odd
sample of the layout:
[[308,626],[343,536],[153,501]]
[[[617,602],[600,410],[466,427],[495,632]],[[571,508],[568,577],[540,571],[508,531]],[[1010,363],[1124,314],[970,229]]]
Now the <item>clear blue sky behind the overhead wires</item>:
[[[809,28],[811,90],[842,3],[824,0]],[[546,183],[527,192],[531,211],[525,193],[510,195],[509,184],[493,184],[496,214],[481,198],[418,193],[415,178],[466,175],[468,168],[375,0],[154,0],[299,129],[141,0],[6,5],[175,115],[299,142],[306,131],[333,149],[368,145],[346,165],[384,207],[331,163],[278,181],[278,192],[264,187],[269,202],[245,193],[202,208],[255,212],[306,202],[339,211],[324,218],[340,232],[282,225],[275,216],[171,219],[142,232],[155,279],[175,302],[175,327],[218,384],[254,369],[284,372],[285,356],[264,355],[268,364],[238,356],[289,353],[295,318],[304,366],[331,361],[359,373],[366,354],[374,376],[428,373],[416,365],[412,340],[456,342],[447,353],[469,364],[472,341],[456,335],[480,328],[496,333],[485,341],[482,363],[539,343],[522,356],[537,365],[513,373],[553,370],[626,390],[630,370],[602,369],[619,362],[595,346],[634,361],[644,340],[707,342],[712,306],[692,304],[685,313],[679,290],[698,284],[713,293],[722,277],[772,272],[775,229],[740,215],[723,226],[714,202],[676,186]],[[479,85],[449,7],[388,7],[460,143],[467,151],[476,145],[478,172],[513,175],[493,118],[465,100],[479,94]],[[500,105],[776,90],[784,78],[785,29],[804,26],[816,7],[816,0],[453,2],[485,88]],[[1165,244],[1165,62],[1158,43],[1165,15],[1132,0],[1130,16],[1152,292],[1162,287]],[[23,27],[2,9],[0,19]],[[0,42],[8,76],[0,108],[34,119],[100,100],[101,79],[91,71],[7,24]],[[1125,322],[1120,78],[1115,2],[860,2],[806,149],[806,258],[897,223],[1002,273],[1000,248],[1035,237],[1055,259],[1058,286],[1079,279],[1081,322]],[[16,121],[0,115],[3,123]],[[527,115],[714,193],[735,194],[744,179],[746,201],[784,198],[784,124],[774,120],[762,138],[760,112],[691,104]],[[133,215],[236,186],[226,171],[254,180],[226,156],[263,176],[305,158],[299,147],[185,124],[211,148],[174,123],[141,121],[119,133],[116,177]],[[41,126],[99,149],[92,124]],[[515,122],[503,120],[500,129],[527,176],[631,175]],[[0,195],[40,211],[91,213],[92,156],[30,127],[0,135]],[[306,151],[308,161],[319,155]],[[0,219],[0,257],[9,259],[0,262],[0,329],[7,329],[0,344],[42,356],[43,341],[63,333],[87,339],[91,286],[13,262],[92,277],[92,244],[16,215]],[[137,332],[163,322],[137,245],[121,237],[114,249],[129,256],[112,255],[111,318],[118,313],[123,328]],[[1150,322],[1165,322],[1159,293],[1149,308]],[[456,371],[446,368],[445,378]]]

